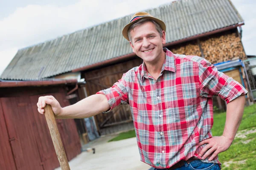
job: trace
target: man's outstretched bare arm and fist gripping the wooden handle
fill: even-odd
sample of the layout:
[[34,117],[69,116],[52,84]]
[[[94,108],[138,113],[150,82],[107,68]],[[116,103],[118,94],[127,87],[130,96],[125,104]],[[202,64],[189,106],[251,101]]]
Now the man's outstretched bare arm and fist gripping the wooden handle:
[[42,96],[39,97],[37,103],[39,113],[44,114],[46,104],[52,106],[52,111],[57,119],[86,118],[110,109],[108,99],[104,94],[94,94],[65,108],[61,108],[53,96]]

